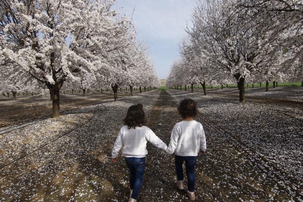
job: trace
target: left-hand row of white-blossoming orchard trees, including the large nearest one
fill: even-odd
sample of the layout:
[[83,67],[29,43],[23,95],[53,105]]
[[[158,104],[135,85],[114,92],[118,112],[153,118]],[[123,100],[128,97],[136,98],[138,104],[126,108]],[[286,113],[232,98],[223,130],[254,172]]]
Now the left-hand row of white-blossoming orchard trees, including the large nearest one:
[[0,0],[0,91],[45,91],[60,116],[60,91],[160,86],[149,47],[114,0]]

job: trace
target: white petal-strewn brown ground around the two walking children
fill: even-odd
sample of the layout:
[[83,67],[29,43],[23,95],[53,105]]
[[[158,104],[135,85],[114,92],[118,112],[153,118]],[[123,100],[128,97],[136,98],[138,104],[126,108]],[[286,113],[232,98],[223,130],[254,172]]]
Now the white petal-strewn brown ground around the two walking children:
[[[147,126],[168,144],[183,98],[197,102],[208,144],[196,201],[303,201],[303,89],[260,89],[246,89],[246,104],[235,88],[148,91],[1,128],[0,201],[127,201],[128,169],[121,152],[111,162],[111,149],[128,107],[142,103]],[[174,156],[147,149],[138,201],[190,201],[176,189]]]

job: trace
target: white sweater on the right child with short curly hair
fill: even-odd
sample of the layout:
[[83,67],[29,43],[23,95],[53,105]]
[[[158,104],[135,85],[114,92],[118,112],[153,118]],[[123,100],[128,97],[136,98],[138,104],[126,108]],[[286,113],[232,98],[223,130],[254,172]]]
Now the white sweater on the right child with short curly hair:
[[197,121],[181,121],[171,131],[171,140],[166,154],[198,156],[199,150],[206,150],[204,129]]

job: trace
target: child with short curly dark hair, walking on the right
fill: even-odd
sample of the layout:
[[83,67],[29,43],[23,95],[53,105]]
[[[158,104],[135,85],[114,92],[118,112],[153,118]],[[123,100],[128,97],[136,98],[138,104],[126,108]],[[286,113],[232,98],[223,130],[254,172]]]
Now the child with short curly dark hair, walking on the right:
[[166,154],[175,152],[175,165],[177,173],[177,187],[185,189],[183,176],[183,162],[188,180],[187,194],[190,200],[195,200],[195,164],[199,150],[205,154],[206,140],[201,123],[194,121],[197,115],[196,103],[192,99],[184,99],[178,107],[183,121],[176,123],[171,131],[171,140]]

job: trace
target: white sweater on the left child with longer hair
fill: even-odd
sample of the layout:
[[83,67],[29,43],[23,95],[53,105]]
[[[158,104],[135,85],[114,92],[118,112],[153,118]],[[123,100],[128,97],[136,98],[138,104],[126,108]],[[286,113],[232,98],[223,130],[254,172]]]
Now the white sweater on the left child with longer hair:
[[118,153],[123,146],[122,153],[124,157],[145,157],[148,154],[146,150],[146,143],[150,141],[151,144],[159,147],[163,151],[167,149],[166,144],[155,135],[155,133],[146,126],[127,128],[127,125],[120,129],[118,137],[115,141],[112,158],[118,156]]

